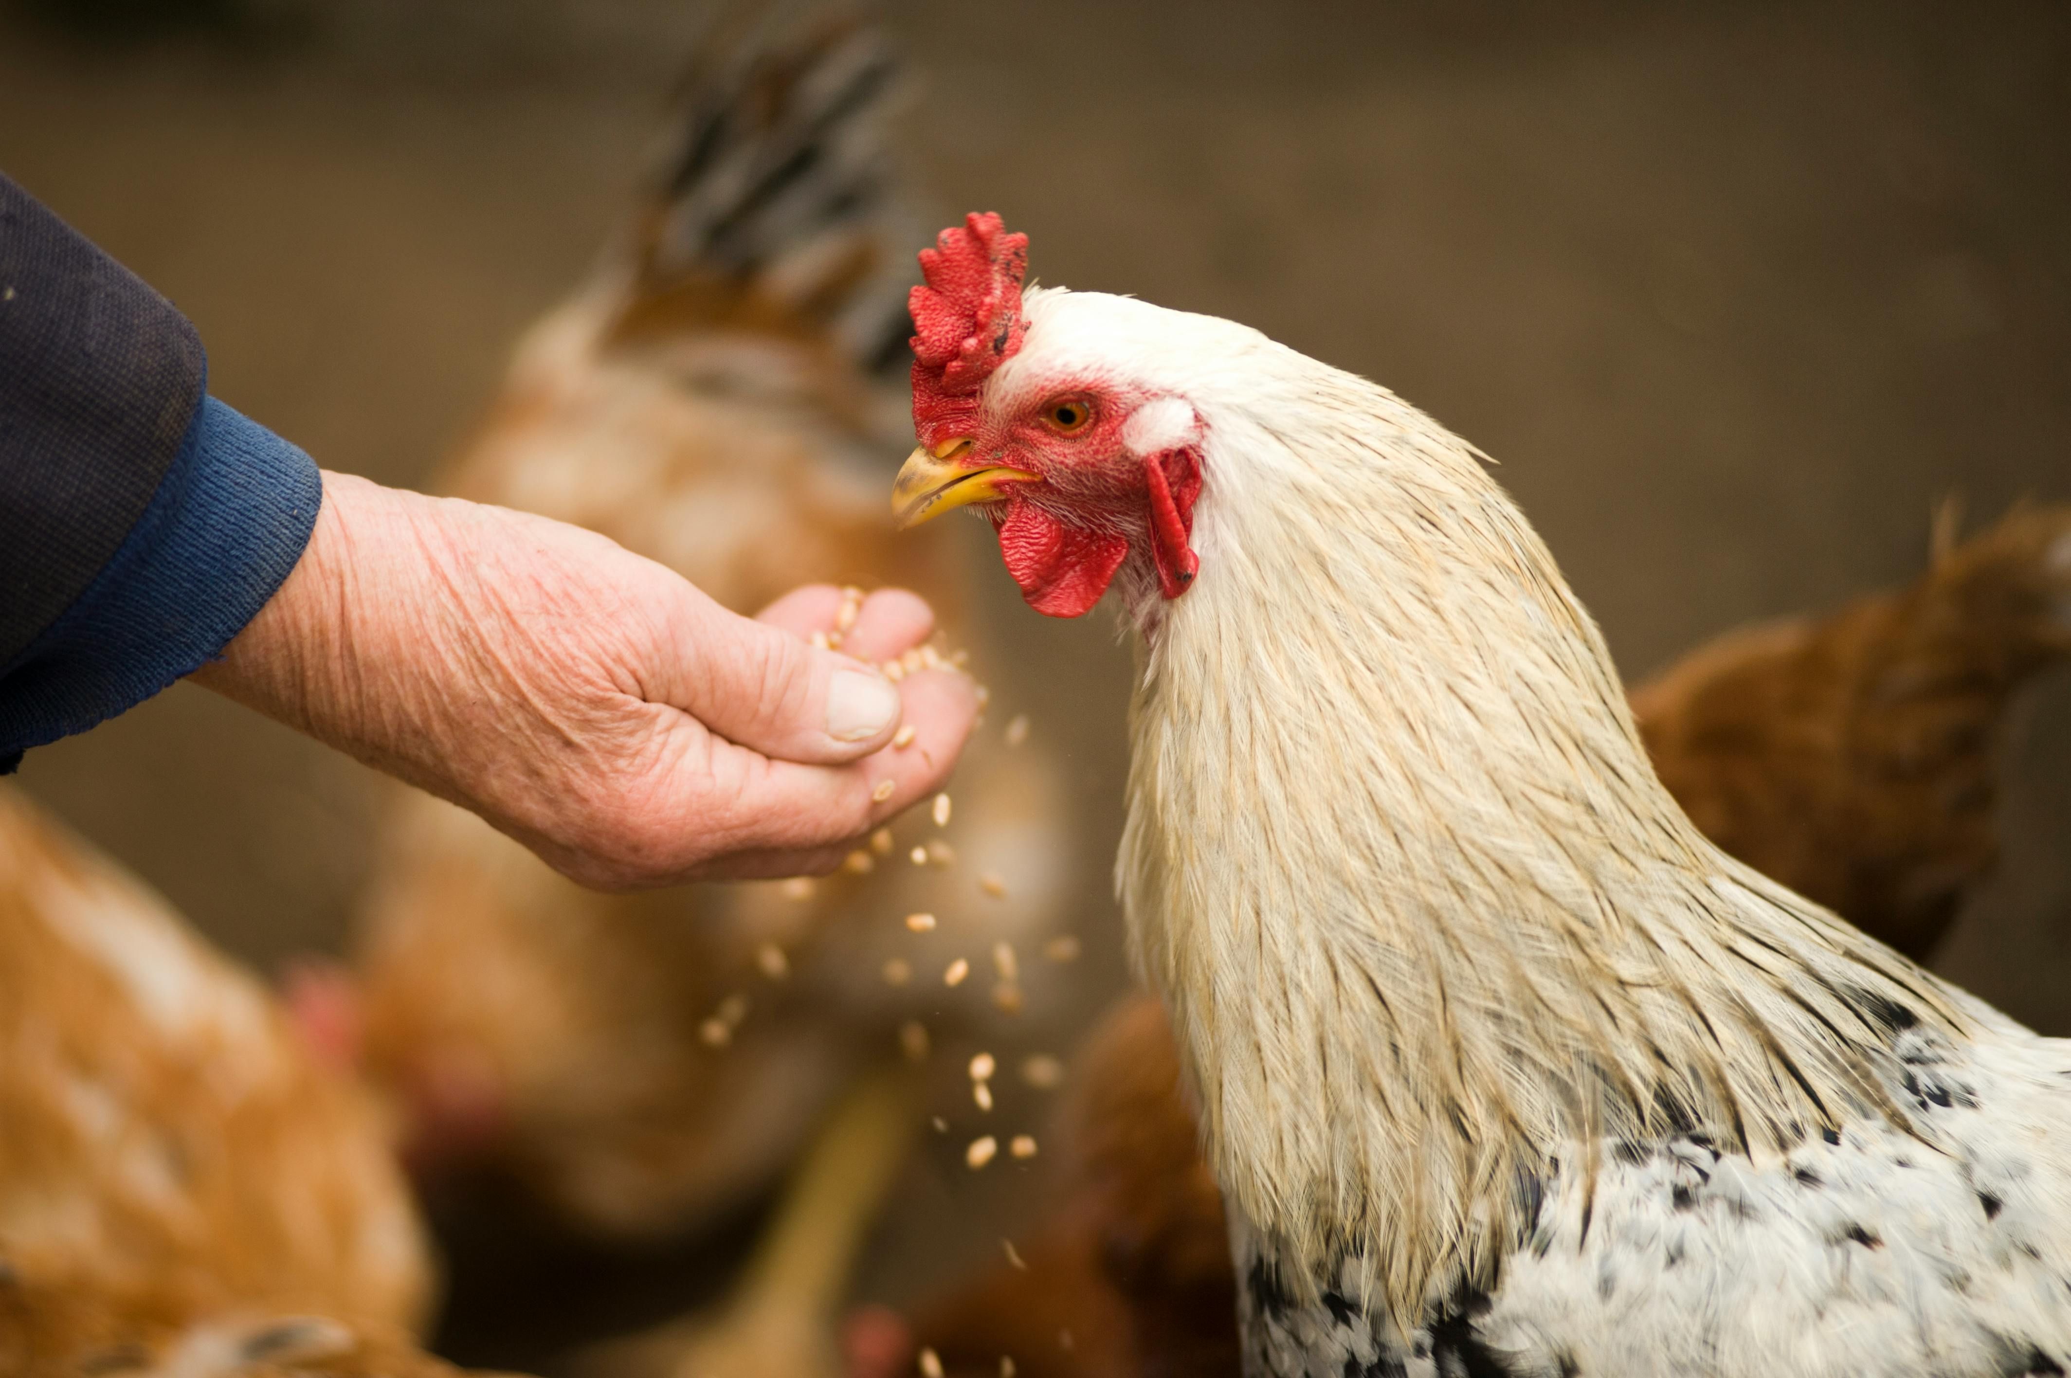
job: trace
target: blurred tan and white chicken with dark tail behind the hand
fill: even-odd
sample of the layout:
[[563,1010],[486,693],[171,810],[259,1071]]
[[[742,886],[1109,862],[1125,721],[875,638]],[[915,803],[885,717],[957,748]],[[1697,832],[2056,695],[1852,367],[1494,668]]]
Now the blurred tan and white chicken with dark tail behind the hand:
[[[982,659],[959,545],[882,512],[903,402],[868,369],[901,348],[907,280],[891,89],[849,21],[717,46],[628,245],[526,336],[441,487],[601,530],[739,611],[816,580],[915,588]],[[851,593],[835,640],[878,659],[855,615]],[[953,798],[816,883],[596,895],[398,792],[354,988],[309,984],[304,1009],[396,1092],[420,1158],[501,1169],[601,1239],[677,1235],[772,1183],[901,1040],[1038,1013],[1056,982],[1019,955],[1073,866],[1052,758],[998,731]],[[944,993],[959,957],[978,976]]]

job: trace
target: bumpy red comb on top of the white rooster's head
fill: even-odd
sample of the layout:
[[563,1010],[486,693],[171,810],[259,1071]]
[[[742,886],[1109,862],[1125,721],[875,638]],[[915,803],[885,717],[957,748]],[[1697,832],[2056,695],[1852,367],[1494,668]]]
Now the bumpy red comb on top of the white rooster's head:
[[978,390],[1021,348],[1021,274],[1029,236],[973,211],[920,251],[928,286],[907,294],[913,315],[913,431],[930,450],[978,425]]

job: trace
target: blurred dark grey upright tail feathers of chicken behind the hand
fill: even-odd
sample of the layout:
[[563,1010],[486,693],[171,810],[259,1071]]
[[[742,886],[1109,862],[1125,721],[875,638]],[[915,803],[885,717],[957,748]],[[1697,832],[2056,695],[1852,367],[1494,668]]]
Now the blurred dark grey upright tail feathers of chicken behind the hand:
[[899,62],[847,10],[731,27],[683,81],[615,334],[793,329],[866,369],[903,365],[917,274],[884,137]]

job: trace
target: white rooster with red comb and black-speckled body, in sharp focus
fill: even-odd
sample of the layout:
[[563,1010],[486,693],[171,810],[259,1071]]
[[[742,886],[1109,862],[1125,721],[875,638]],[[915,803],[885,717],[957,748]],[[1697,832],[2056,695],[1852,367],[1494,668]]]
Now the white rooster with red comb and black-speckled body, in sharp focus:
[[2063,1372],[2071,1046],[1696,829],[1479,452],[1023,298],[998,218],[922,263],[895,510],[1137,634],[1116,881],[1247,1374]]

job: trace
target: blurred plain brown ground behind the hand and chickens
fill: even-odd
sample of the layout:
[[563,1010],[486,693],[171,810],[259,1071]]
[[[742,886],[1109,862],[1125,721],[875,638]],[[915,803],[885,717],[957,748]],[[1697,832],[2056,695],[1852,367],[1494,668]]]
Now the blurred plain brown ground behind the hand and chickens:
[[[0,168],[193,317],[217,396],[391,485],[466,439],[516,334],[621,224],[702,19],[4,15]],[[2071,499],[2071,6],[899,0],[882,21],[915,77],[899,155],[924,211],[998,209],[1042,280],[1243,319],[1431,410],[1501,462],[1628,676],[1909,578],[1947,495],[1972,524]],[[1104,613],[1027,615],[996,557],[973,568],[1013,653],[994,690],[1108,848],[1127,653]],[[377,798],[342,756],[180,686],[21,779],[259,968],[340,947]],[[2023,702],[2003,787],[2005,866],[1936,966],[2067,1034],[2071,680]],[[1106,914],[1098,877],[1079,903]],[[1112,918],[1085,932],[1091,1007],[1122,966]],[[903,1187],[866,1293],[992,1247],[942,1243],[965,1189]],[[470,1276],[454,1357],[545,1363],[565,1337],[491,1339]]]

